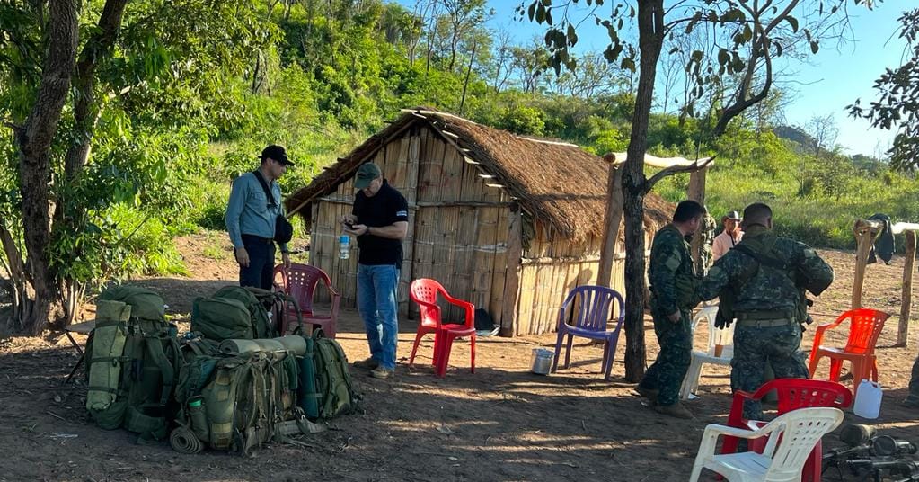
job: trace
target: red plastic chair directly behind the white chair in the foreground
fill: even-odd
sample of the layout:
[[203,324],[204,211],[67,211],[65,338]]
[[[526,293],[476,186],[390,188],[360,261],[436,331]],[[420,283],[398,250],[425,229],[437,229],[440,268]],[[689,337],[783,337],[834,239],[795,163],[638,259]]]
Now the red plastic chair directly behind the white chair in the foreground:
[[[788,413],[791,410],[807,407],[834,407],[843,409],[852,405],[852,392],[848,388],[835,382],[825,380],[811,380],[808,378],[778,378],[760,386],[755,393],[737,391],[728,415],[728,427],[738,429],[756,430],[766,425],[765,421],[743,419],[743,401],[761,400],[769,392],[776,390],[778,393],[777,415]],[[721,453],[737,452],[736,437],[725,437],[721,445]],[[748,442],[747,450],[763,453],[766,448],[766,439],[755,439]],[[820,482],[822,467],[823,445],[817,442],[804,470],[801,473],[802,481]]]

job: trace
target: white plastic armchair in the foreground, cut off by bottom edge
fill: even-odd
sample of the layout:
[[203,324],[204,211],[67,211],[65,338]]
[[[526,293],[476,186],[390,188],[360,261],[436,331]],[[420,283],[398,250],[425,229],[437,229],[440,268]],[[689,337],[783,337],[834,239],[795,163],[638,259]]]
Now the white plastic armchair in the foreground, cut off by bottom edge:
[[[703,468],[719,473],[733,482],[800,481],[801,468],[811,456],[817,441],[843,421],[838,408],[800,408],[778,416],[759,430],[743,430],[711,424],[702,434],[696,463],[689,482],[698,481]],[[715,454],[719,435],[743,439],[768,436],[763,453],[742,452]]]

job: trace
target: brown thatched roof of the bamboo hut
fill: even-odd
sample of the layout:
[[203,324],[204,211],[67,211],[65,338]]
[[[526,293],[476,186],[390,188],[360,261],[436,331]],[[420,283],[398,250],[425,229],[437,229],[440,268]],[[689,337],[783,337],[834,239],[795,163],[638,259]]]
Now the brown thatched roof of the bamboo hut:
[[[285,201],[309,223],[310,203],[335,191],[355,175],[357,166],[414,123],[424,123],[463,155],[478,163],[491,184],[501,185],[537,221],[573,239],[600,235],[607,193],[607,163],[577,145],[499,131],[445,112],[412,109],[371,136]],[[444,132],[448,132],[444,134]],[[384,173],[385,175],[385,173]],[[674,205],[654,193],[644,198],[645,225],[657,229],[670,221]]]

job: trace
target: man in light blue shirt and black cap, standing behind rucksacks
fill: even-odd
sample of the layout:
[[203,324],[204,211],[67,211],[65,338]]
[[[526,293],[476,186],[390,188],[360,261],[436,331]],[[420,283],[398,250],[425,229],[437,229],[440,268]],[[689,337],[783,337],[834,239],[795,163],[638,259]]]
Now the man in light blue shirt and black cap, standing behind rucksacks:
[[[275,268],[275,223],[284,213],[281,189],[275,182],[285,172],[289,161],[284,148],[269,145],[262,151],[262,164],[233,180],[233,190],[227,204],[226,224],[233,253],[239,263],[240,286],[271,289]],[[271,199],[258,176],[271,190]],[[288,247],[279,245],[284,266],[290,266]]]

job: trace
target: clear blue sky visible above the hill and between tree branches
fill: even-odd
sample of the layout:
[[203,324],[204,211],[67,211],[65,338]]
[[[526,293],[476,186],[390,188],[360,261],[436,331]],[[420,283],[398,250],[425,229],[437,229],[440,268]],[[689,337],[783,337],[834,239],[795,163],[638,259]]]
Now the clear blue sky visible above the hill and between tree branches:
[[[399,0],[411,8],[414,0]],[[582,1],[581,4],[584,4]],[[517,43],[527,43],[544,31],[535,23],[515,21],[519,0],[489,0],[495,15],[489,20],[492,29],[508,29]],[[839,136],[836,143],[848,154],[882,155],[893,133],[870,128],[867,120],[849,118],[845,106],[857,98],[867,104],[875,98],[871,88],[885,68],[902,64],[905,42],[899,38],[897,17],[915,0],[883,0],[868,10],[849,6],[850,36],[855,41],[837,46],[824,41],[820,52],[811,55],[808,63],[790,63],[785,67],[794,73],[797,91],[794,101],[785,109],[789,124],[803,125],[813,116],[834,115]],[[608,40],[605,29],[586,21],[578,29],[578,52],[602,52]]]

